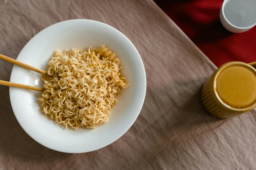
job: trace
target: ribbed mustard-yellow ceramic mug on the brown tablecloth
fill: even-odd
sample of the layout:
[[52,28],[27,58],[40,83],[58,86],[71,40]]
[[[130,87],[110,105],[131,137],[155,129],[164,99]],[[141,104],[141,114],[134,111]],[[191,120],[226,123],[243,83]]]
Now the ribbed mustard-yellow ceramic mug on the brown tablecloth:
[[256,107],[256,62],[230,62],[205,82],[201,99],[213,116],[232,118]]

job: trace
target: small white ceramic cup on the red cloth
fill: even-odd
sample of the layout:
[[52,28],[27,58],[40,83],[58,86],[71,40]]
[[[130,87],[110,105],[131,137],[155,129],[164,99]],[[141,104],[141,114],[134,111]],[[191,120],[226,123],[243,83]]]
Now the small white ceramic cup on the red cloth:
[[256,25],[256,0],[224,0],[220,21],[230,32],[248,31]]

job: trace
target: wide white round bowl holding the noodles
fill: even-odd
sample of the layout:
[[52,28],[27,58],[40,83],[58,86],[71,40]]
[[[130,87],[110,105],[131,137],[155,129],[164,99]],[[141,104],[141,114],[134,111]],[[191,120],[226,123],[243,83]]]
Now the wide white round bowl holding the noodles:
[[[130,87],[123,89],[109,120],[95,129],[64,129],[39,111],[41,92],[10,87],[13,112],[28,135],[43,146],[61,152],[82,153],[103,148],[124,135],[138,117],[146,93],[142,59],[131,41],[115,28],[92,20],[69,20],[49,26],[35,35],[17,60],[46,70],[54,50],[84,49],[105,44],[116,53],[121,72]],[[43,87],[41,75],[14,65],[11,82]]]

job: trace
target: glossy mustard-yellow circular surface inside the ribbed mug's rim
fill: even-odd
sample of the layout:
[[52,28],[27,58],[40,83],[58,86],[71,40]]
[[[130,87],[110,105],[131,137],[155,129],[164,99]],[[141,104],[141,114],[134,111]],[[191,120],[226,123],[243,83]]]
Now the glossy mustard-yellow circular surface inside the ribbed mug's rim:
[[256,74],[243,65],[230,65],[219,73],[217,95],[232,108],[247,108],[256,102]]

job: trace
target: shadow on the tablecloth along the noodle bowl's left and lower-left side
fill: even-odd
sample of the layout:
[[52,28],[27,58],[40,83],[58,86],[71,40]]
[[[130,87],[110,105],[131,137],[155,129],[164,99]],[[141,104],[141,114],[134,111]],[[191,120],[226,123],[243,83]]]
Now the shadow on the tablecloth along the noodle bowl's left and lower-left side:
[[[7,44],[6,47],[8,48],[0,47],[1,53],[16,59],[18,53],[13,53],[13,51],[10,49],[21,51],[23,46],[25,46],[29,41],[29,39],[26,37],[21,39],[22,40],[20,42],[16,42],[16,44],[19,44],[19,46],[16,46],[15,44],[13,46],[11,46],[12,44]],[[0,71],[2,72],[2,74],[0,74],[0,79],[9,81],[13,64],[0,60],[0,65],[3,66],[0,68]],[[38,95],[36,95],[36,97],[38,97]],[[69,153],[61,153],[52,149],[48,149],[37,143],[29,135],[26,134],[26,132],[19,125],[12,111],[9,99],[9,87],[1,86],[0,100],[0,136],[2,136],[2,139],[0,140],[0,152],[6,156],[6,159],[14,158],[19,162],[28,160],[43,162],[45,159],[47,159],[48,161],[53,162],[56,159],[61,160],[72,155]]]

